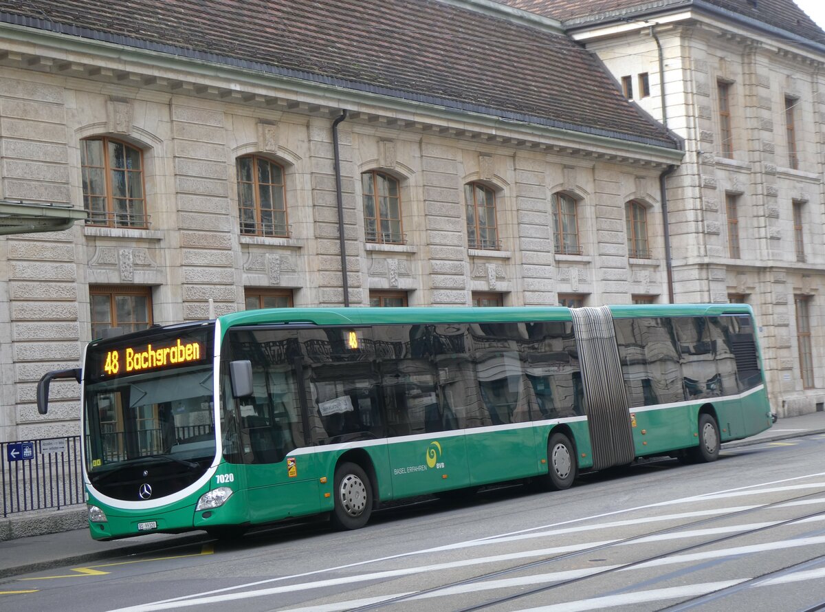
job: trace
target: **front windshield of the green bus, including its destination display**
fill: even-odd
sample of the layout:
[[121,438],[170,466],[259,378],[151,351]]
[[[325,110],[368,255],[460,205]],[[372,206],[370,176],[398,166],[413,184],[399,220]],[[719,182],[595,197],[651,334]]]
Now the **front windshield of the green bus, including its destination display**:
[[217,449],[210,346],[200,333],[90,347],[83,429],[93,486],[131,499],[129,485],[151,474],[158,497],[205,473]]

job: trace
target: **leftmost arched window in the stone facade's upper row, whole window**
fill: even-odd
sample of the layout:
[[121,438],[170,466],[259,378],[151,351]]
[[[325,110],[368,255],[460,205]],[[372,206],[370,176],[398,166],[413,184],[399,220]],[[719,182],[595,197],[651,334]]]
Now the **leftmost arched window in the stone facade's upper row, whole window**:
[[88,224],[147,228],[143,152],[130,144],[97,137],[80,141],[83,207]]

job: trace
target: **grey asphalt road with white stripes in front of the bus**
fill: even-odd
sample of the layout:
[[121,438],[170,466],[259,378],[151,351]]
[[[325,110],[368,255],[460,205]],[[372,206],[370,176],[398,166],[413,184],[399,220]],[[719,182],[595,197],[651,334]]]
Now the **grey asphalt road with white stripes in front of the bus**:
[[[815,610],[825,435],[8,579],[4,610]],[[174,540],[170,541],[173,544]],[[24,592],[29,591],[29,592]],[[5,606],[8,605],[6,608]]]

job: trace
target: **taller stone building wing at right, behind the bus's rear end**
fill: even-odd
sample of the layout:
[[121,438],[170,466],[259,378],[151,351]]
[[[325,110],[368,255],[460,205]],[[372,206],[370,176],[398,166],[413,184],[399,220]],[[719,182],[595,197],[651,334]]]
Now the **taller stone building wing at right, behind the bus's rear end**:
[[825,32],[791,0],[504,1],[562,20],[684,139],[667,178],[675,301],[751,304],[775,411],[822,411]]

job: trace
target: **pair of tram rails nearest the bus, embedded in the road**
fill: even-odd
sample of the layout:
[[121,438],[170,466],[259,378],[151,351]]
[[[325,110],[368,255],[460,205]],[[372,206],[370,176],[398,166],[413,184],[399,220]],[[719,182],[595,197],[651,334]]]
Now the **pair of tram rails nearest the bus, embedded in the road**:
[[[676,525],[676,526],[673,526],[673,527],[668,527],[668,528],[662,529],[662,530],[656,530],[656,531],[646,533],[646,534],[634,535],[634,536],[629,537],[629,538],[615,540],[615,541],[612,541],[612,542],[609,542],[609,543],[606,543],[606,544],[599,544],[599,545],[588,547],[588,548],[582,548],[582,549],[574,551],[574,552],[563,553],[563,554],[556,555],[556,556],[553,556],[553,557],[550,557],[550,558],[543,558],[543,559],[539,559],[537,561],[531,561],[530,563],[521,563],[521,564],[516,565],[514,567],[508,567],[507,569],[497,570],[496,572],[486,572],[486,573],[484,573],[482,575],[479,575],[479,576],[476,576],[476,577],[465,578],[465,579],[459,580],[459,581],[453,581],[453,582],[450,582],[450,583],[447,583],[447,584],[444,584],[444,585],[441,585],[441,586],[435,586],[435,587],[432,587],[430,589],[425,589],[425,590],[422,590],[422,591],[416,591],[414,593],[408,593],[408,594],[405,594],[403,596],[398,596],[398,597],[394,597],[392,599],[383,600],[383,601],[380,601],[380,602],[376,602],[374,604],[355,607],[355,608],[352,608],[351,610],[353,612],[356,612],[356,611],[361,612],[363,610],[380,610],[382,608],[387,608],[391,605],[401,604],[401,603],[406,602],[406,601],[417,600],[417,599],[421,599],[422,597],[427,597],[427,596],[435,596],[435,594],[438,593],[439,591],[448,591],[450,589],[454,589],[454,588],[461,587],[461,586],[471,586],[473,584],[481,583],[481,582],[484,582],[484,581],[491,581],[491,580],[495,580],[495,579],[500,578],[500,577],[507,577],[508,575],[512,575],[512,574],[517,573],[517,572],[526,572],[528,570],[535,569],[536,567],[544,567],[544,566],[547,566],[550,563],[559,563],[559,562],[563,562],[563,561],[566,561],[566,560],[569,560],[569,559],[581,557],[583,555],[588,555],[588,554],[596,553],[596,552],[599,552],[599,551],[603,551],[603,550],[606,550],[606,549],[625,546],[625,545],[628,545],[628,544],[634,544],[634,542],[639,542],[639,541],[644,540],[644,539],[650,539],[650,538],[653,538],[653,537],[656,537],[656,536],[659,536],[659,535],[674,534],[674,533],[677,533],[677,532],[680,532],[680,531],[691,530],[691,529],[694,529],[696,527],[712,524],[712,523],[717,522],[719,520],[729,520],[729,519],[735,518],[737,516],[744,516],[744,515],[749,515],[749,514],[756,513],[756,512],[766,511],[766,510],[770,510],[771,508],[792,504],[796,501],[804,501],[804,500],[808,500],[808,499],[813,499],[815,497],[822,496],[823,494],[825,494],[825,489],[818,490],[818,491],[815,491],[815,492],[810,492],[810,493],[807,493],[807,494],[801,495],[801,496],[791,497],[789,499],[774,501],[774,502],[771,502],[769,504],[762,504],[762,505],[759,505],[759,506],[751,506],[751,507],[748,507],[748,508],[745,508],[745,509],[742,509],[742,510],[739,510],[739,511],[731,512],[731,513],[728,513],[728,514],[711,516],[711,517],[701,519],[701,520],[694,520],[694,521],[691,521],[691,522],[688,522],[688,523],[685,523],[685,524],[682,524],[682,525]],[[589,574],[587,574],[587,576],[574,577],[574,578],[570,578],[570,579],[562,580],[562,581],[554,581],[552,584],[549,584],[549,585],[535,587],[533,589],[528,589],[526,591],[520,591],[519,593],[509,595],[509,596],[502,596],[502,597],[497,597],[497,598],[493,598],[493,599],[490,599],[490,600],[486,600],[486,601],[484,601],[483,603],[480,603],[480,604],[471,605],[471,606],[465,607],[465,608],[460,608],[459,610],[456,610],[456,612],[472,612],[473,610],[483,610],[485,608],[489,608],[489,607],[492,607],[494,605],[506,605],[507,603],[511,603],[513,601],[516,601],[516,600],[522,600],[522,599],[524,599],[525,597],[528,597],[528,596],[535,596],[535,595],[539,595],[541,593],[546,593],[546,592],[549,592],[549,591],[553,591],[553,590],[562,588],[563,586],[570,586],[570,585],[573,585],[573,584],[576,584],[576,583],[581,583],[582,581],[593,580],[593,579],[598,578],[598,577],[606,577],[610,574],[614,574],[615,572],[626,571],[626,570],[631,569],[633,567],[641,566],[645,563],[653,563],[655,561],[661,560],[662,558],[668,558],[668,557],[672,557],[674,555],[689,553],[690,551],[695,550],[697,548],[704,548],[704,547],[707,547],[707,546],[712,546],[714,544],[720,544],[720,543],[723,543],[723,542],[726,542],[726,541],[729,541],[729,540],[732,540],[732,539],[744,538],[744,537],[747,537],[747,536],[752,535],[752,534],[759,534],[761,532],[765,532],[767,530],[779,529],[783,526],[792,525],[792,524],[798,523],[800,521],[811,520],[813,518],[821,517],[821,516],[825,516],[825,511],[811,512],[811,513],[808,513],[808,514],[805,514],[805,515],[796,516],[796,517],[788,519],[788,520],[773,522],[773,523],[771,523],[771,525],[763,525],[763,526],[760,526],[760,527],[757,527],[757,528],[754,528],[754,529],[750,529],[750,530],[738,531],[737,533],[734,533],[734,534],[726,534],[724,536],[720,536],[720,537],[717,537],[717,538],[705,539],[702,542],[697,543],[697,544],[691,544],[690,546],[684,546],[684,547],[681,547],[681,548],[668,550],[665,553],[650,555],[648,557],[639,559],[639,560],[631,562],[631,563],[622,563],[620,565],[611,566],[611,567],[606,568],[605,570],[602,570],[602,571],[589,573]],[[490,540],[495,540],[495,538],[490,538]],[[823,609],[825,609],[825,608],[823,608]],[[819,610],[819,609],[815,609],[815,610]]]

